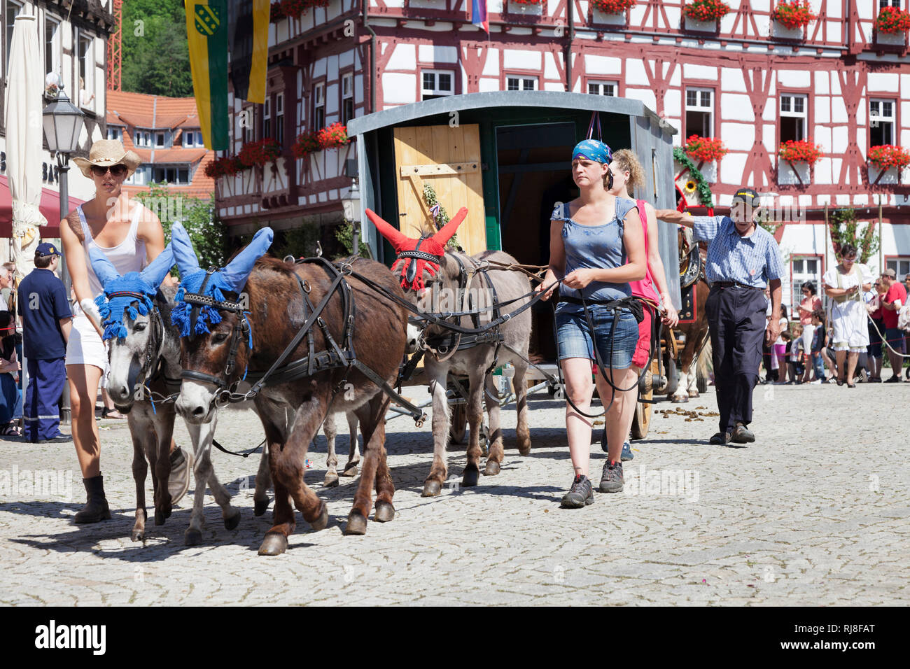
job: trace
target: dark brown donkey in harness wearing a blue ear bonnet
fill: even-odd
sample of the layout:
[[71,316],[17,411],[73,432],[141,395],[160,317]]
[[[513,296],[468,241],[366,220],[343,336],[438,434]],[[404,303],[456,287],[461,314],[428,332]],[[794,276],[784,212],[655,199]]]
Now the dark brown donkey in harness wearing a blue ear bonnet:
[[[389,399],[361,369],[385,383],[396,378],[405,350],[407,309],[368,289],[354,276],[333,276],[331,266],[318,267],[316,262],[292,265],[263,258],[273,236],[270,228],[260,229],[226,268],[208,273],[199,268],[187,231],[175,224],[171,235],[181,278],[172,319],[183,338],[184,362],[177,412],[188,422],[210,421],[217,406],[229,399],[228,389],[241,378],[249,373],[263,381],[254,384],[258,387],[254,405],[268,443],[275,524],[266,532],[259,554],[278,555],[287,550],[288,534],[296,525],[292,501],[314,530],[329,523],[326,503],[304,482],[309,443],[329,412],[353,411],[364,441],[359,486],[344,532],[367,531],[374,485],[374,520],[392,520],[395,487],[386,461],[383,421]],[[343,267],[346,273],[356,271],[404,299],[384,265],[350,258]],[[344,295],[356,304],[349,318]],[[323,303],[317,314],[319,307],[312,305]],[[265,382],[267,370],[302,334],[308,320],[307,336],[297,339],[275,378]],[[333,357],[329,350],[338,342],[356,352],[362,368],[336,364],[337,354]],[[291,360],[301,362],[288,364]],[[312,370],[308,362],[314,364]],[[290,421],[288,411],[293,413]]]

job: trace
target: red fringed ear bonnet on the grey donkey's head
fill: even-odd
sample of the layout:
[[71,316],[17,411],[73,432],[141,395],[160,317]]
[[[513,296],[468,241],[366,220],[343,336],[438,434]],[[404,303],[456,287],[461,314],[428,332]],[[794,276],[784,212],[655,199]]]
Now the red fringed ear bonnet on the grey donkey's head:
[[392,264],[392,271],[400,272],[401,288],[405,293],[425,290],[427,283],[439,274],[442,258],[446,254],[446,244],[467,215],[468,209],[462,207],[455,218],[438,232],[415,239],[392,228],[389,223],[379,218],[375,211],[367,209],[367,217],[398,254],[398,258]]

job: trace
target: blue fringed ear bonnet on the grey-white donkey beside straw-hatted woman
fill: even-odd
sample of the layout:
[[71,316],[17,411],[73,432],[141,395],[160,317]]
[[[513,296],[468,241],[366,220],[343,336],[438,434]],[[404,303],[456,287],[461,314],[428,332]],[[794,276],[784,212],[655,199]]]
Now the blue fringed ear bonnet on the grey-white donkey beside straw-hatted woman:
[[139,314],[145,316],[155,308],[152,300],[155,299],[158,286],[174,266],[171,245],[168,244],[146,269],[141,272],[126,272],[122,277],[114,263],[94,244],[88,248],[88,259],[104,287],[104,291],[95,299],[104,328],[103,338],[125,339],[129,332],[123,322],[124,313],[136,320]]

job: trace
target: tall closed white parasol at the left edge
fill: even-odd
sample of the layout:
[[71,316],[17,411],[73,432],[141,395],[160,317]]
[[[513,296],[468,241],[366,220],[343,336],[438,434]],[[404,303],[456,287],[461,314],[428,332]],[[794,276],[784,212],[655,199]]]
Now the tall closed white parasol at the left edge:
[[19,279],[35,269],[35,248],[40,241],[38,227],[47,223],[38,209],[44,133],[42,62],[35,16],[16,16],[7,68],[5,122],[6,165],[13,198],[13,259]]

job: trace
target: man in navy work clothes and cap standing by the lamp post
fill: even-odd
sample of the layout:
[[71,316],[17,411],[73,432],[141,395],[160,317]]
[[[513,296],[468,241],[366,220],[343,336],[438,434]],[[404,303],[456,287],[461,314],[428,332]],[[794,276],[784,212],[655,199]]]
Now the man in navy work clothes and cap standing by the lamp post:
[[38,244],[35,269],[19,284],[28,389],[25,390],[25,441],[73,441],[60,432],[57,406],[66,383],[66,340],[73,313],[63,282],[54,273],[60,251],[53,244]]

